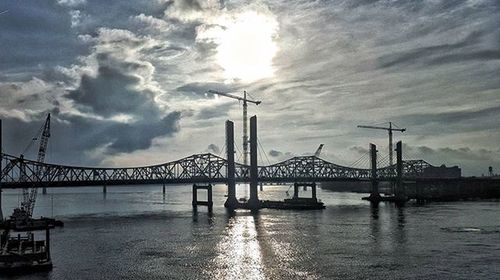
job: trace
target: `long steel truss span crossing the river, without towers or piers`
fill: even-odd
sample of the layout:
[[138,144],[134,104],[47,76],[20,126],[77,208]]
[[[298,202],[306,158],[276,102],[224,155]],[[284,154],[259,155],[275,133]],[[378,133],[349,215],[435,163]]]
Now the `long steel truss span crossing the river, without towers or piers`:
[[[164,164],[97,168],[40,163],[1,155],[1,188],[106,186],[134,184],[226,183],[227,160],[214,154],[196,154]],[[403,161],[403,177],[420,177],[431,166],[423,160]],[[235,163],[236,182],[250,181],[250,166]],[[369,181],[370,169],[337,165],[315,156],[294,157],[259,166],[259,182]],[[396,179],[395,165],[377,169],[378,180]]]

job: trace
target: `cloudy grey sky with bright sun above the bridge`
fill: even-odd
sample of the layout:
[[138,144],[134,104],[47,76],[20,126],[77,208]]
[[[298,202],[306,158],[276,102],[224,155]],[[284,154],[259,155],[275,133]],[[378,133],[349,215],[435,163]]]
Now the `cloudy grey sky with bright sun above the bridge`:
[[[261,164],[350,166],[387,125],[407,158],[500,173],[497,0],[0,2],[3,151],[52,114],[47,162],[141,166],[224,155],[254,100]],[[36,149],[26,152],[34,158]],[[241,155],[237,156],[241,161]]]

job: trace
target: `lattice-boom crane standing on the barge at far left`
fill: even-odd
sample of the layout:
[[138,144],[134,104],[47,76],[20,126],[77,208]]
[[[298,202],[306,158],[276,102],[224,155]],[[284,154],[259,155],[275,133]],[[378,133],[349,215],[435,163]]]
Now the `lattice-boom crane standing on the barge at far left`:
[[[45,119],[45,123],[41,128],[40,134],[40,146],[38,148],[38,157],[37,161],[43,163],[45,161],[45,152],[47,151],[47,144],[50,137],[50,113],[47,115]],[[38,138],[33,138],[32,141],[37,140]],[[31,144],[30,144],[31,145]],[[24,158],[24,155],[21,155],[21,160]],[[24,173],[24,172],[23,172]],[[40,165],[36,170],[36,174],[38,178],[42,177],[43,167]],[[15,208],[12,218],[14,220],[26,220],[30,219],[33,215],[33,209],[35,208],[36,196],[38,193],[38,188],[23,188],[23,201],[21,202],[21,207]]]

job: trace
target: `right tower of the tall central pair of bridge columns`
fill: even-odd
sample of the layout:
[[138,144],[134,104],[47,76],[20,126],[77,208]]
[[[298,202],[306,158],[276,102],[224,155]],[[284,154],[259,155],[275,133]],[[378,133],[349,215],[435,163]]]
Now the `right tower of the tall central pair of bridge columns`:
[[259,185],[257,148],[257,116],[253,116],[250,118],[250,199],[248,199],[248,207],[252,210],[260,208],[257,189]]

